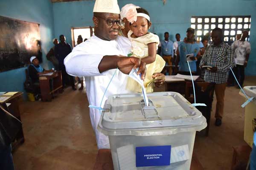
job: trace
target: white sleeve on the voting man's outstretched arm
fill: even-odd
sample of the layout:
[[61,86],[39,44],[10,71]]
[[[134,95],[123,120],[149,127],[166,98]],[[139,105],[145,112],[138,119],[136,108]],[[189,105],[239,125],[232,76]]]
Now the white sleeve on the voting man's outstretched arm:
[[[88,47],[87,47],[88,48]],[[77,77],[105,75],[100,73],[98,66],[103,58],[102,54],[88,54],[82,46],[73,48],[73,51],[64,59],[67,74]]]

